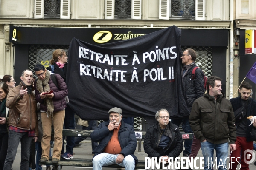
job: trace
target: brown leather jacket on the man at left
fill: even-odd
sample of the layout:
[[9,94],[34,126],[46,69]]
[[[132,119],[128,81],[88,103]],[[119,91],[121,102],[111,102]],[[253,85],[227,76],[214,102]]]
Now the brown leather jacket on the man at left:
[[[35,136],[38,136],[38,119],[36,114],[37,102],[35,94],[25,94],[20,96],[21,87],[26,89],[22,82],[9,90],[6,100],[6,107],[9,108],[9,126],[19,129],[35,130]],[[32,91],[34,87],[31,86]]]

